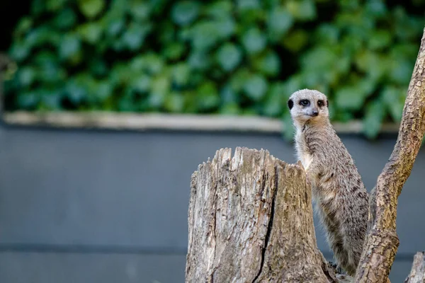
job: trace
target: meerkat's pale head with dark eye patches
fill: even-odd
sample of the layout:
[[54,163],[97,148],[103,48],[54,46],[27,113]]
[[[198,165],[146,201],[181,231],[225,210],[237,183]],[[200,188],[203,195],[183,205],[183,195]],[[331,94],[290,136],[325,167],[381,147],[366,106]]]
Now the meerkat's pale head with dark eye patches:
[[289,100],[288,108],[295,123],[323,122],[329,120],[327,97],[310,89],[295,91]]

